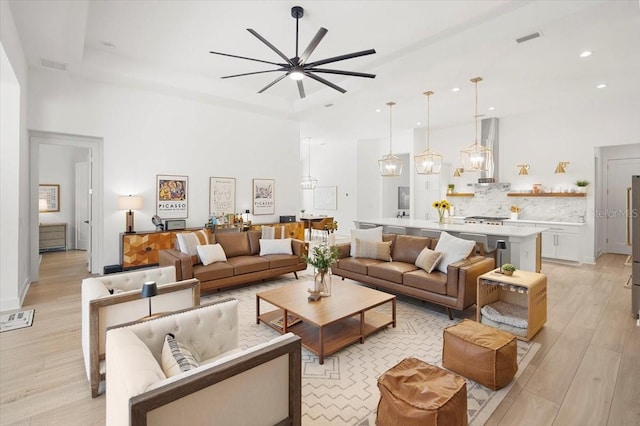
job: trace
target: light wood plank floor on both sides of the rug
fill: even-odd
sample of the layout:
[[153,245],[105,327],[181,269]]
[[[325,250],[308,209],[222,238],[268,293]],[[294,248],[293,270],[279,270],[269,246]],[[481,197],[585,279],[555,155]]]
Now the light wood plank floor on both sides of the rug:
[[[43,255],[25,308],[30,328],[0,333],[0,424],[102,425],[80,344],[83,252]],[[530,366],[489,425],[640,425],[640,327],[625,289],[625,256],[597,265],[544,263],[548,321]]]

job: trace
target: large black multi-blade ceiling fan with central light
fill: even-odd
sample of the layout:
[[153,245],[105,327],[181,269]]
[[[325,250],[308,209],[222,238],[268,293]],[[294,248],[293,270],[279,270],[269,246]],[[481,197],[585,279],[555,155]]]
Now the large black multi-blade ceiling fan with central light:
[[311,42],[309,43],[309,45],[307,46],[307,48],[304,50],[304,52],[302,52],[302,55],[298,55],[298,22],[299,22],[300,18],[302,18],[302,16],[304,16],[304,9],[302,7],[300,7],[300,6],[292,7],[291,8],[291,16],[296,19],[296,56],[294,56],[293,58],[287,58],[284,53],[282,53],[274,45],[269,43],[264,37],[262,37],[260,34],[258,34],[255,30],[253,30],[251,28],[247,28],[247,31],[249,31],[251,34],[256,36],[256,38],[258,40],[260,40],[261,42],[266,44],[267,47],[269,47],[271,50],[276,52],[278,54],[278,56],[280,56],[282,59],[284,59],[284,63],[264,61],[262,59],[247,58],[247,57],[244,57],[244,56],[231,55],[229,53],[209,52],[209,53],[213,53],[215,55],[229,56],[231,58],[246,59],[246,60],[249,60],[249,61],[262,62],[262,63],[265,63],[265,64],[271,64],[271,65],[275,65],[275,66],[279,67],[279,68],[276,68],[276,69],[273,69],[273,70],[267,70],[267,71],[255,71],[255,72],[248,72],[248,73],[244,73],[244,74],[227,75],[227,76],[224,76],[222,78],[242,77],[242,76],[246,76],[246,75],[264,74],[264,73],[268,73],[268,72],[282,71],[282,72],[284,72],[284,74],[282,74],[280,77],[278,77],[275,80],[273,80],[271,83],[267,84],[258,93],[264,92],[265,90],[267,90],[268,88],[270,88],[271,86],[273,86],[274,84],[276,84],[277,82],[279,82],[280,80],[285,78],[286,76],[289,76],[292,80],[296,80],[296,82],[298,83],[298,92],[300,93],[300,98],[304,98],[305,97],[305,92],[304,92],[304,85],[302,83],[302,79],[305,76],[307,76],[307,77],[309,77],[309,78],[311,78],[313,80],[316,80],[316,81],[318,81],[318,82],[320,82],[320,83],[322,83],[324,85],[327,85],[327,86],[331,87],[332,89],[337,90],[340,93],[346,93],[346,90],[343,89],[342,87],[337,86],[337,85],[333,84],[332,82],[330,82],[330,81],[328,81],[328,80],[316,75],[316,73],[340,74],[340,75],[348,75],[348,76],[353,76],[353,77],[366,77],[366,78],[375,78],[376,77],[375,74],[367,74],[367,73],[355,72],[355,71],[334,70],[334,69],[327,69],[327,68],[318,68],[321,65],[330,64],[332,62],[344,61],[345,59],[351,59],[351,58],[357,58],[357,57],[360,57],[360,56],[371,55],[371,54],[376,53],[375,49],[362,50],[360,52],[354,52],[354,53],[347,53],[346,55],[334,56],[334,57],[327,58],[327,59],[321,59],[321,60],[315,61],[315,62],[307,62],[307,60],[309,59],[309,56],[311,56],[311,54],[313,53],[315,48],[318,46],[318,44],[320,43],[322,38],[327,34],[328,30],[326,28],[320,28],[318,30],[318,32],[316,33],[316,35],[311,40]]

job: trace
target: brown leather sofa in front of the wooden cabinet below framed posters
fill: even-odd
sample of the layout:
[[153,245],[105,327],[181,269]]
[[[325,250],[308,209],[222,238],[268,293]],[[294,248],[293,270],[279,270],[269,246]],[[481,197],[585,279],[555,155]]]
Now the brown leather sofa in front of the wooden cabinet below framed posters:
[[260,256],[261,231],[210,234],[210,244],[219,243],[227,257],[226,262],[209,265],[200,263],[197,256],[189,256],[176,249],[160,250],[160,266],[175,266],[176,279],[200,280],[201,291],[218,290],[239,284],[260,282],[307,269],[303,254],[308,252],[308,243],[292,239],[293,254],[267,254]]

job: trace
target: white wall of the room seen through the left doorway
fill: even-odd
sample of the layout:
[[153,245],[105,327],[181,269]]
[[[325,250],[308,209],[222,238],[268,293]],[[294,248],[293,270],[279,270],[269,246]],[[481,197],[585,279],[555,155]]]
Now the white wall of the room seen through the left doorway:
[[67,247],[75,249],[76,163],[89,160],[89,149],[40,145],[40,184],[60,185],[60,211],[39,213],[40,223],[66,223]]

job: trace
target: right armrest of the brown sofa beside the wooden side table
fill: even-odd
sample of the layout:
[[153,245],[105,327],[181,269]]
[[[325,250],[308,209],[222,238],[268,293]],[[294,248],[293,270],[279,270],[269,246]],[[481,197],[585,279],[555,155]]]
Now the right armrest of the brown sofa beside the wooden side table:
[[478,277],[495,267],[488,257],[471,256],[447,267],[447,295],[457,298],[457,309],[464,310],[476,303]]

